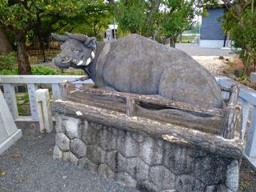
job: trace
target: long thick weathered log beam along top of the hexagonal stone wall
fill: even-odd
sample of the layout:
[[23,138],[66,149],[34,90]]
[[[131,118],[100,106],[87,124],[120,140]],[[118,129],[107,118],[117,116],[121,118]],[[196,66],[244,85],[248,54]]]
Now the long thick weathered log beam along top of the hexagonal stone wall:
[[[214,134],[206,134],[199,130],[191,130],[170,123],[155,122],[141,117],[128,117],[116,111],[104,110],[95,106],[87,106],[70,101],[56,101],[54,112],[74,118],[83,118],[90,122],[102,123],[118,129],[137,131],[162,138],[168,142],[175,142],[190,146],[198,150],[206,150],[213,154],[229,158],[242,158],[243,142],[239,139],[225,139]],[[79,116],[76,112],[80,112]]]

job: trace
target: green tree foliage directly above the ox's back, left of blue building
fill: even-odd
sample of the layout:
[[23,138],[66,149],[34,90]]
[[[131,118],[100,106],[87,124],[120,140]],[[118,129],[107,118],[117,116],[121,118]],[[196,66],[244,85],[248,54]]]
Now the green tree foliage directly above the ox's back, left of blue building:
[[[153,37],[177,38],[184,30],[190,30],[195,16],[205,15],[202,7],[217,0],[120,0],[116,16],[118,27],[124,31]],[[200,26],[195,26],[197,32]]]

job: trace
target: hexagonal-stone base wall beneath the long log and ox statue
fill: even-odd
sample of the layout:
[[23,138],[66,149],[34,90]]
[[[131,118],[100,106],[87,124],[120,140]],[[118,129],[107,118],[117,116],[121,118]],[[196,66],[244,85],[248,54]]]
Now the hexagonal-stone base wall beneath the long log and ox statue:
[[58,114],[54,158],[141,191],[234,192],[238,161]]

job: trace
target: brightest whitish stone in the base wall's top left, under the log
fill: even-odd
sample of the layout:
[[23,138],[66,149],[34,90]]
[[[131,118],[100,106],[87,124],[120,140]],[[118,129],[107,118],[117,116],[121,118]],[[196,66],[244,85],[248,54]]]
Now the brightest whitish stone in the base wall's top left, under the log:
[[63,122],[63,126],[66,130],[66,135],[70,138],[80,138],[80,127],[81,124],[80,119],[78,118],[68,118],[68,120]]

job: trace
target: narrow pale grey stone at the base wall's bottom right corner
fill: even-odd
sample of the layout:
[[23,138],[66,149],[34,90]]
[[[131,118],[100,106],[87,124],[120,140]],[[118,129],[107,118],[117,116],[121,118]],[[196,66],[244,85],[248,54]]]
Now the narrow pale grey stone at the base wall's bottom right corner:
[[239,182],[239,166],[238,161],[234,160],[227,166],[226,169],[226,187],[231,191],[238,190],[238,182]]

